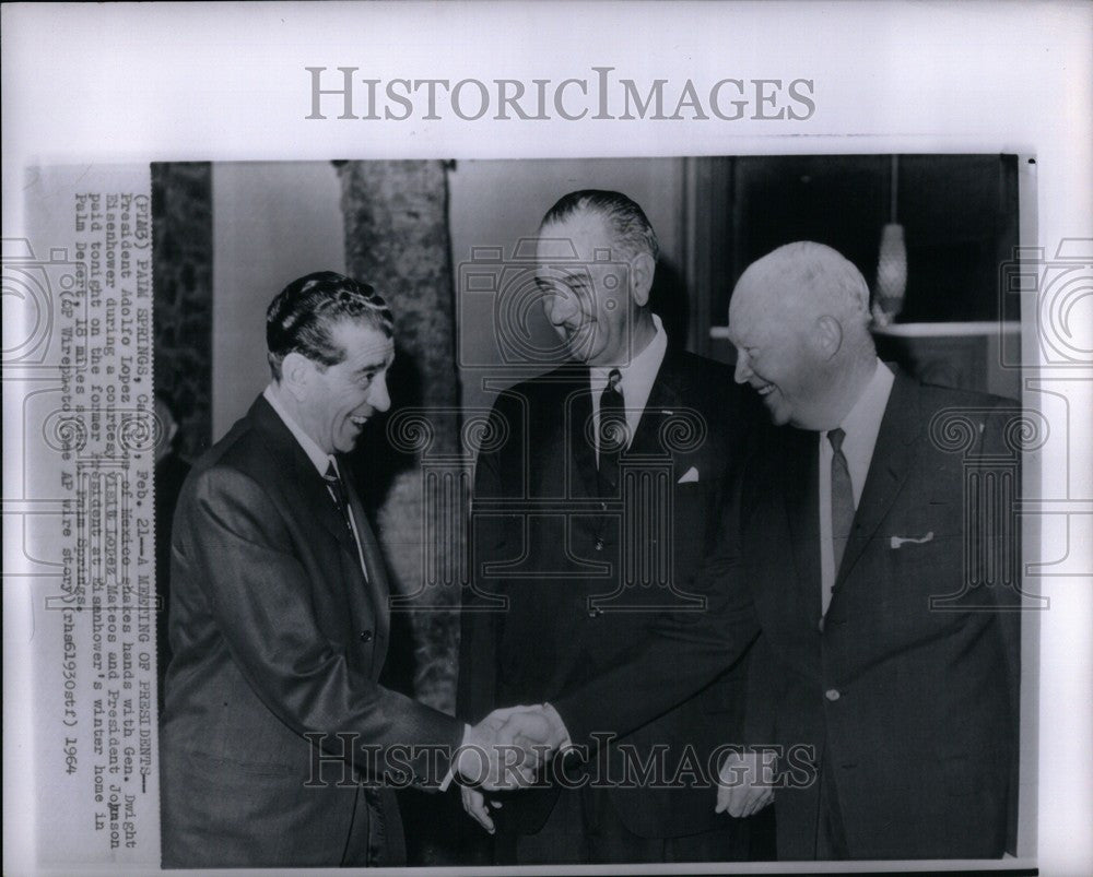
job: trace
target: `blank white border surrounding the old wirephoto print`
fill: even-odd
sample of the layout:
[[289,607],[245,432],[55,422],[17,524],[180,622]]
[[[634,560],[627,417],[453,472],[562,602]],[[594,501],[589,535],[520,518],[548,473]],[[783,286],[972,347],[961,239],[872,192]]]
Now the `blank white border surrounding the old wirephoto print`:
[[[21,181],[36,163],[1015,152],[1037,156],[1038,244],[1053,254],[1065,237],[1093,237],[1091,10],[1080,2],[9,4],[3,235],[20,235]],[[304,67],[339,64],[381,79],[454,81],[557,80],[601,64],[645,81],[804,76],[815,82],[818,109],[803,122],[305,120]],[[1071,412],[1082,430],[1072,464],[1085,473],[1076,486],[1088,498],[1088,384],[1074,387]],[[1088,535],[1072,549],[1093,570]],[[1090,873],[1093,863],[1090,584],[1055,580],[1043,619],[1045,874]],[[21,704],[33,692],[21,662],[23,616],[8,589],[4,603],[4,869],[23,873],[32,839],[21,820],[34,785],[19,739],[27,731]]]

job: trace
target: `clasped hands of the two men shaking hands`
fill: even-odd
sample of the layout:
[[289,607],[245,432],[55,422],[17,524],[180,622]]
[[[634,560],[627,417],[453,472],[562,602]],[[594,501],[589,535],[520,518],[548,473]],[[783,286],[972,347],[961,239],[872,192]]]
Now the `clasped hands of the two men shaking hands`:
[[549,703],[494,710],[468,727],[453,766],[461,780],[463,809],[492,834],[490,807],[500,809],[503,804],[490,801],[487,805],[483,790],[526,789],[539,768],[568,746],[562,716]]

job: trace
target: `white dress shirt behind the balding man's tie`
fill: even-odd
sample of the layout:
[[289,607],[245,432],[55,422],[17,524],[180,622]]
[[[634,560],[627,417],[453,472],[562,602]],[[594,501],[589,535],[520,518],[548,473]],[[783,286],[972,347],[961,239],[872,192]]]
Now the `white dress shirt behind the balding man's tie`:
[[[843,439],[843,455],[850,472],[850,487],[854,490],[854,508],[858,508],[861,490],[869,475],[869,464],[877,447],[877,435],[881,431],[881,420],[884,419],[884,408],[888,407],[889,395],[895,376],[880,359],[877,360],[873,376],[858,401],[854,403],[850,413],[839,424],[846,436]],[[835,549],[832,545],[831,532],[831,461],[835,452],[832,450],[827,432],[820,434],[820,579],[823,585],[822,615],[827,614],[831,603],[831,592],[835,586]]]

